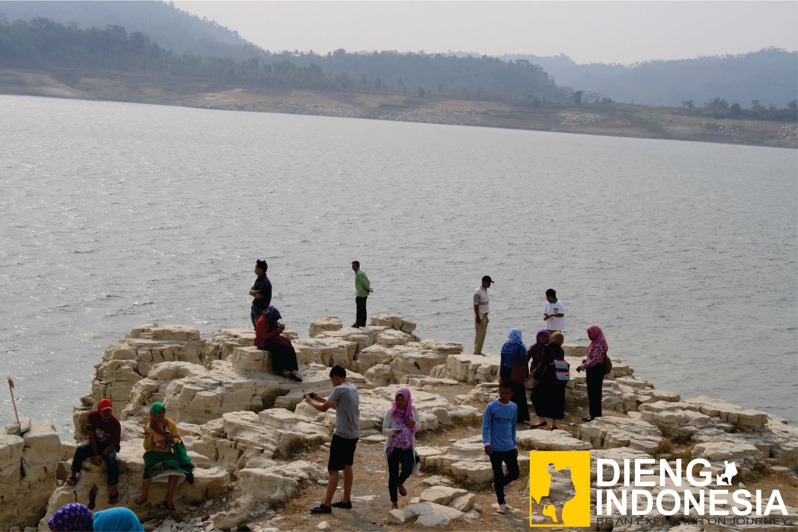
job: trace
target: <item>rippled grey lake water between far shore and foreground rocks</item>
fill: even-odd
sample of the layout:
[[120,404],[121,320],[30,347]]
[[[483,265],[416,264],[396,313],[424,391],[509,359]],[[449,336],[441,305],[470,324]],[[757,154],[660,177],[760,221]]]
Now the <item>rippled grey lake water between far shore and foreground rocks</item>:
[[2,371],[62,435],[133,326],[250,326],[256,258],[301,336],[357,259],[369,315],[470,352],[489,274],[489,353],[551,287],[566,341],[798,420],[796,151],[13,96],[0,146]]

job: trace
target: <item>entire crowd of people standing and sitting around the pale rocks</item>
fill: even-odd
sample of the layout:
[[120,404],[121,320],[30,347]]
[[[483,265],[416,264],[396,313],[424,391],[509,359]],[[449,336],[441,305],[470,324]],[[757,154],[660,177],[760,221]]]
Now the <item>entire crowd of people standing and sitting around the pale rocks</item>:
[[[282,336],[285,325],[282,316],[271,305],[271,282],[267,278],[266,261],[255,263],[255,284],[250,289],[253,297],[251,321],[255,327],[255,346],[271,353],[272,367],[279,375],[302,382],[298,372],[296,352],[291,341]],[[360,263],[352,262],[355,272],[355,304],[357,308],[353,327],[365,326],[365,301],[371,293],[369,278],[360,269]],[[481,286],[474,293],[475,339],[474,354],[483,355],[485,334],[488,329],[488,289],[493,280],[485,275]],[[557,298],[555,290],[546,291],[547,303],[543,310],[546,327],[539,329],[535,343],[528,349],[523,344],[521,329],[511,329],[502,345],[499,369],[499,396],[488,403],[482,418],[484,452],[490,458],[496,491],[497,511],[507,510],[504,488],[519,478],[518,447],[516,432],[519,423],[532,428],[543,428],[551,420],[551,430],[558,428],[559,420],[565,416],[565,388],[570,379],[570,368],[563,351],[565,329],[565,305]],[[587,328],[591,344],[587,347],[587,358],[576,368],[586,372],[587,396],[590,415],[583,418],[591,421],[602,415],[602,380],[606,373],[608,345],[598,325]],[[527,403],[527,382],[531,380],[531,403],[536,420],[531,420]],[[316,392],[308,392],[305,401],[319,412],[332,408],[335,411],[335,428],[330,443],[330,457],[324,500],[310,510],[314,514],[330,514],[333,508],[352,509],[352,483],[354,454],[360,438],[360,394],[346,380],[346,369],[340,365],[330,369],[333,391],[327,398]],[[385,463],[388,468],[388,494],[391,508],[397,509],[399,496],[406,496],[405,481],[418,471],[419,458],[416,453],[416,432],[421,428],[421,417],[413,406],[413,394],[406,386],[397,388],[393,402],[385,412],[382,432],[385,433]],[[109,484],[109,505],[119,501],[119,466],[117,451],[120,450],[120,422],[113,416],[113,404],[102,399],[97,410],[89,412],[86,421],[88,435],[75,450],[71,471],[65,483],[74,486],[78,482],[85,459],[94,465],[105,462]],[[150,484],[167,483],[167,494],[162,502],[167,510],[175,510],[173,496],[178,483],[186,480],[193,483],[192,463],[175,422],[166,417],[164,404],[152,404],[148,423],[143,427],[144,474],[141,493],[136,497],[137,505],[148,500]],[[504,474],[504,466],[508,473]],[[343,471],[341,500],[333,502],[335,491]],[[73,502],[62,506],[49,520],[50,530],[143,530],[128,508],[110,508],[92,513],[86,506]],[[98,528],[99,526],[99,528]]]

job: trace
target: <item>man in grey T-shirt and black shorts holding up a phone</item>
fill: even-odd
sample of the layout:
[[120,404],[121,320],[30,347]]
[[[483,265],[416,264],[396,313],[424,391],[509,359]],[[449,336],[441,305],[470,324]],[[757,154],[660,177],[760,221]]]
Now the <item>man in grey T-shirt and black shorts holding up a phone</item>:
[[[327,463],[330,481],[324,502],[310,509],[313,514],[330,514],[333,507],[352,509],[352,464],[354,450],[360,439],[360,394],[358,388],[346,382],[346,369],[341,366],[330,369],[330,380],[334,388],[329,399],[315,392],[305,396],[305,402],[319,412],[327,412],[330,408],[335,411],[335,429],[330,442],[330,461]],[[341,470],[344,471],[344,493],[340,501],[333,502],[338,487],[338,471]]]

